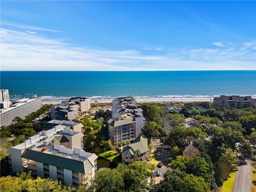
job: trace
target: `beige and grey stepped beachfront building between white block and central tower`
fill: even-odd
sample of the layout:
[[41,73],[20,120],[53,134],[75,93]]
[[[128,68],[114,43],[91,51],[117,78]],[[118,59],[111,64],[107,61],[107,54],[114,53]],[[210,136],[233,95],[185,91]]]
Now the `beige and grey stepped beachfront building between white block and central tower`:
[[73,120],[84,116],[91,107],[91,99],[72,97],[68,101],[62,101],[57,106],[51,107],[52,119]]

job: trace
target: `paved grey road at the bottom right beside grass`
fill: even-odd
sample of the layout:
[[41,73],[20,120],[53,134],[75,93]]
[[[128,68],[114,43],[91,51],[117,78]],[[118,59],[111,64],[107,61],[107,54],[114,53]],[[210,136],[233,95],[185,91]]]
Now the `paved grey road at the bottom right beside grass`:
[[245,165],[238,166],[233,192],[251,192],[251,163],[245,161]]

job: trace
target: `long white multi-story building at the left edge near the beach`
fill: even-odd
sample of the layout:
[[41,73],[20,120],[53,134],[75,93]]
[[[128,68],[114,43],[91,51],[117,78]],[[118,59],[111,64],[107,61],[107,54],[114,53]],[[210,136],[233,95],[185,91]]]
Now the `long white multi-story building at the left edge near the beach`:
[[[5,101],[7,102],[7,101]],[[10,125],[15,117],[25,118],[42,107],[42,99],[20,99],[11,103],[10,107],[0,109],[0,125]]]

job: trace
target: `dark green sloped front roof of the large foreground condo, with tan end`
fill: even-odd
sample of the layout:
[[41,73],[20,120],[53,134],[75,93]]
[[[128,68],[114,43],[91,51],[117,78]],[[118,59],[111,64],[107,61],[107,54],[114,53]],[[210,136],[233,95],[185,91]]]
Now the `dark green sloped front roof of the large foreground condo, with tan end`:
[[84,174],[86,174],[93,167],[89,159],[85,159],[85,161],[78,161],[76,159],[47,154],[31,149],[25,149],[21,157],[31,159],[33,161],[44,163],[47,165],[53,165],[61,169],[72,170],[74,172]]

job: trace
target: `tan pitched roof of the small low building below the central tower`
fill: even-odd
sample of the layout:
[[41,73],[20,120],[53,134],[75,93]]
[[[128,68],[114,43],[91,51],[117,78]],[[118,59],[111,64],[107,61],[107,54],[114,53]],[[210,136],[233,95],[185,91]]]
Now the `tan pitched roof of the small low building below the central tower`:
[[135,139],[134,143],[127,145],[123,148],[122,154],[126,157],[132,157],[135,150],[140,150],[140,153],[145,153],[148,151],[148,139],[143,135],[140,135]]

